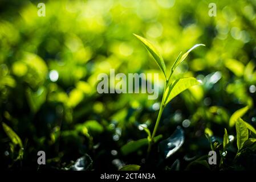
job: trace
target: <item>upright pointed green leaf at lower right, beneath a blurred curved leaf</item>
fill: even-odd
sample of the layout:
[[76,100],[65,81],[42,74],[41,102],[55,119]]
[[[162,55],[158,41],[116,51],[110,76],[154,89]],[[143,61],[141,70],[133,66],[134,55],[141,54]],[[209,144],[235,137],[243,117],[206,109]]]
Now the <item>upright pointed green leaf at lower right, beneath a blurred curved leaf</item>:
[[243,147],[243,143],[248,139],[249,133],[245,122],[241,118],[235,121],[235,129],[237,130],[237,148],[239,151]]

